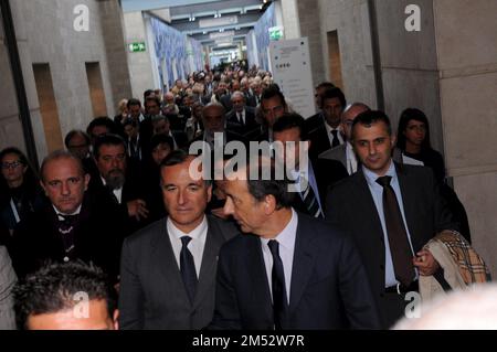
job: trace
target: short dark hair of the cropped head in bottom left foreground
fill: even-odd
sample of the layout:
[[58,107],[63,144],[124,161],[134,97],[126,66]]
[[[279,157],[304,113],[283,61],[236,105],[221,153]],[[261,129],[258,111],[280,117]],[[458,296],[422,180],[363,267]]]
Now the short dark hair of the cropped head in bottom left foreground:
[[89,300],[105,300],[109,317],[113,317],[115,294],[102,269],[83,262],[49,263],[13,288],[18,328],[25,329],[31,314],[73,308],[80,301],[75,299],[78,292],[87,294]]

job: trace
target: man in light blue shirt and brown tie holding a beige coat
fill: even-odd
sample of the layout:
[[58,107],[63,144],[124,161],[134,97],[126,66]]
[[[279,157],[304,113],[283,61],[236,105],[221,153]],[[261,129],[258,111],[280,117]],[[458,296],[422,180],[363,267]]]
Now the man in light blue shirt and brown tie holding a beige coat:
[[430,169],[392,161],[390,120],[366,111],[352,125],[352,145],[362,164],[328,194],[327,220],[356,241],[380,309],[382,327],[404,314],[405,295],[420,275],[440,265],[423,246],[443,230],[458,231]]

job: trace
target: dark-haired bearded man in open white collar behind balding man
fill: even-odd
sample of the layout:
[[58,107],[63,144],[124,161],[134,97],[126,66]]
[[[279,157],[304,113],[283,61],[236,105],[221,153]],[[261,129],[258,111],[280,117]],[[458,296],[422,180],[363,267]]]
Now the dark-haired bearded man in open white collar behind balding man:
[[89,190],[105,201],[110,201],[128,224],[126,234],[147,224],[148,209],[137,178],[137,168],[126,158],[126,145],[117,135],[98,138],[94,157],[99,178],[92,180]]

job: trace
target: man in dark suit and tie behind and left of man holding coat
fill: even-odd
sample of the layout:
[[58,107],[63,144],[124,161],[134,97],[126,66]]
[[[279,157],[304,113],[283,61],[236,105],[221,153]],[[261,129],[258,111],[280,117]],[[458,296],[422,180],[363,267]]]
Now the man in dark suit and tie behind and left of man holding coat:
[[309,139],[314,141],[309,153],[317,158],[321,152],[330,148],[345,143],[341,129],[341,113],[347,105],[343,93],[340,88],[330,88],[321,95],[321,122],[315,125],[309,120],[308,126],[315,125],[313,129],[308,128]]

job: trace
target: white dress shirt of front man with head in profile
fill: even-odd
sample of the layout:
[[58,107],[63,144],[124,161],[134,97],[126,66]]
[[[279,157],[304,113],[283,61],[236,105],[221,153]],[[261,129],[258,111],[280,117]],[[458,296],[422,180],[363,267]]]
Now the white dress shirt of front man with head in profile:
[[[295,252],[295,239],[297,238],[297,225],[298,216],[297,213],[292,209],[292,218],[288,224],[283,228],[283,231],[273,239],[278,242],[279,247],[279,258],[283,263],[283,271],[285,274],[285,288],[286,298],[289,305],[290,287],[292,287],[292,267],[294,264],[294,252]],[[269,239],[261,238],[264,265],[266,267],[267,281],[269,282],[269,291],[273,297],[273,255],[267,246]]]

